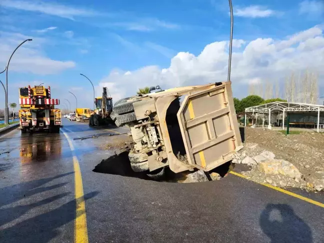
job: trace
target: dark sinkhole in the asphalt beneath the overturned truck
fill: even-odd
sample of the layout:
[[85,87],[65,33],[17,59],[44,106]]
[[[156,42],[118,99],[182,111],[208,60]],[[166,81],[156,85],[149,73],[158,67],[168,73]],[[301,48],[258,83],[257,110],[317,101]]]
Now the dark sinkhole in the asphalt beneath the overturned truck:
[[[163,173],[160,173],[160,176],[152,177],[147,175],[145,171],[135,172],[132,170],[130,161],[128,159],[128,150],[126,150],[106,159],[102,159],[92,171],[160,182],[187,183],[221,179],[222,177],[225,177],[232,169],[233,165],[230,162],[226,162],[217,168],[212,169],[208,173],[203,173],[202,171],[200,171],[200,173],[198,173],[198,171],[183,171],[174,173],[168,167],[165,167],[163,168]],[[219,176],[215,178],[214,173]],[[193,174],[194,176],[192,176]]]

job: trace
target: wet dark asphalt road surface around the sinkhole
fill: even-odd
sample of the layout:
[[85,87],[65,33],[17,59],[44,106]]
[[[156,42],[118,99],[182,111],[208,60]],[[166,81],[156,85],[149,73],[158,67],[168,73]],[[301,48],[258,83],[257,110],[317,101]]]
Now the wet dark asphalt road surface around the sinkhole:
[[[324,242],[323,207],[232,174],[181,184],[93,172],[113,154],[100,148],[109,134],[64,119],[59,134],[0,137],[0,242],[81,242],[75,159],[89,242]],[[323,194],[294,192],[324,203]]]

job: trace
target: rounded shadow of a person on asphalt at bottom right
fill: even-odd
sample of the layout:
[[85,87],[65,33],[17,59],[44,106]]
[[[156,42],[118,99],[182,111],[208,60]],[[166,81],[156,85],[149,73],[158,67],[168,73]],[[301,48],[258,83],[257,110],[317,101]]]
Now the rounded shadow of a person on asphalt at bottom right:
[[312,242],[310,227],[287,204],[267,204],[259,219],[271,242]]

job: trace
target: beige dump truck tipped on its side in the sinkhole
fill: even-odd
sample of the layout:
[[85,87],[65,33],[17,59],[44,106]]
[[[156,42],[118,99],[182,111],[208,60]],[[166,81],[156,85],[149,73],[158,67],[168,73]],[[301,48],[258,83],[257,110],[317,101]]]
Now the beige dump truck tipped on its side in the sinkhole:
[[241,143],[230,81],[121,99],[111,118],[131,129],[131,168],[151,177],[167,166],[209,171],[231,160]]

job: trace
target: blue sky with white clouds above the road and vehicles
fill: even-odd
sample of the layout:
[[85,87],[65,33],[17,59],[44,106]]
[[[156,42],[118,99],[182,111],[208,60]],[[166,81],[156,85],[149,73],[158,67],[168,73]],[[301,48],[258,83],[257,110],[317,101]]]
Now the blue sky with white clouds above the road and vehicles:
[[[307,69],[324,96],[324,0],[232,3],[233,95],[246,96],[250,83],[283,89],[286,76]],[[225,81],[229,26],[228,0],[0,0],[0,71],[32,38],[10,61],[9,102],[18,103],[19,87],[44,83],[61,107],[75,108],[68,91],[79,107],[92,107],[80,73],[96,96],[106,86],[114,101],[144,86]]]

